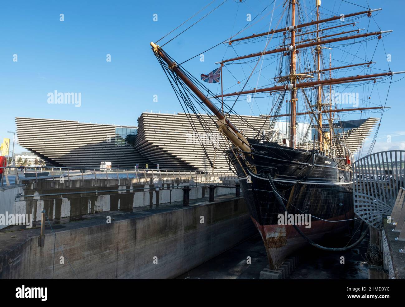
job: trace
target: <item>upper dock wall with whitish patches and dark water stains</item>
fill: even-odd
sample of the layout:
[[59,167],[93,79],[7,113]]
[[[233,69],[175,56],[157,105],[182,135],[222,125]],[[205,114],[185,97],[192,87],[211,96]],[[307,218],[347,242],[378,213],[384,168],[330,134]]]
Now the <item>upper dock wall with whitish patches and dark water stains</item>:
[[[234,180],[213,180],[216,183],[234,183]],[[205,185],[205,186],[202,186]],[[207,197],[208,184],[198,184],[188,179],[86,179],[41,180],[25,185],[0,189],[0,214],[32,214],[40,220],[45,209],[49,218],[72,218],[96,212],[127,210],[145,205],[160,205],[183,201],[184,186],[194,187],[190,199]],[[215,195],[233,192],[229,188],[216,188]],[[3,194],[4,195],[3,195]],[[16,195],[21,196],[16,198]],[[0,226],[0,229],[2,227]]]

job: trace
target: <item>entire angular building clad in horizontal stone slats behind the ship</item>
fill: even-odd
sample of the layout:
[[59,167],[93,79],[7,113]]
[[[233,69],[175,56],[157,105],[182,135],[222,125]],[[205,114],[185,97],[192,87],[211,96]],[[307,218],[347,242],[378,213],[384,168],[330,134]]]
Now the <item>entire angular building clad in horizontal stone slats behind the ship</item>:
[[[192,120],[188,116],[192,117]],[[99,169],[101,162],[112,168],[196,169],[228,171],[229,143],[215,120],[205,114],[144,112],[138,126],[116,126],[54,119],[16,117],[18,144],[57,167]],[[204,123],[202,126],[200,121]],[[265,116],[230,116],[230,121],[248,138],[266,131],[288,133],[289,122],[270,125]],[[356,151],[377,119],[337,123],[334,142],[344,142]],[[273,127],[270,129],[270,127]],[[298,123],[298,142],[311,140],[308,123]],[[314,130],[314,129],[312,129]],[[287,138],[283,136],[281,138]],[[312,148],[312,147],[311,147]]]

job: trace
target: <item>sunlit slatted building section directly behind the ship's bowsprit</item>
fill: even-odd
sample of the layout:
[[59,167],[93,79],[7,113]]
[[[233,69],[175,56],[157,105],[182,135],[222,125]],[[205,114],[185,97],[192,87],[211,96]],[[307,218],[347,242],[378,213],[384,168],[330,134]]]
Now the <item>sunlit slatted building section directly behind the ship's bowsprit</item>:
[[[257,130],[269,126],[268,119],[259,116],[230,116],[237,127],[252,138]],[[203,123],[203,124],[201,124]],[[138,137],[135,150],[164,169],[229,170],[226,159],[228,142],[208,115],[185,113],[142,113],[138,119]]]

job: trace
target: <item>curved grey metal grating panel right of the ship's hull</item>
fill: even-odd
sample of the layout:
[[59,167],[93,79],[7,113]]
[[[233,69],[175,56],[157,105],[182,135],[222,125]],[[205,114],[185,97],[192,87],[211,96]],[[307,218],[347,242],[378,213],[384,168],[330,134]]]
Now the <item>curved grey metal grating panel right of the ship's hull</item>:
[[354,212],[380,229],[404,186],[405,150],[377,152],[353,163]]

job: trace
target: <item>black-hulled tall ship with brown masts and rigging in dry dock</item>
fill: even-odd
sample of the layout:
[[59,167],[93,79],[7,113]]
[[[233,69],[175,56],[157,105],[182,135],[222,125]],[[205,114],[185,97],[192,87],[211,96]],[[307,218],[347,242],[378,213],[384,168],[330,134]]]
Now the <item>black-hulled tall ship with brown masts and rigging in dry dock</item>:
[[[374,60],[377,47],[391,32],[375,23],[381,8],[343,14],[323,8],[321,0],[313,8],[298,0],[268,2],[230,38],[186,61],[175,61],[164,48],[178,35],[170,40],[164,36],[161,40],[168,42],[151,42],[151,47],[192,125],[207,126],[198,114],[210,114],[223,136],[215,150],[228,157],[236,172],[270,268],[277,269],[308,241],[341,233],[354,219],[354,154],[379,125],[380,119],[368,114],[382,116],[387,108],[379,84],[386,89],[395,74],[404,72],[392,72],[389,62],[388,69],[381,69]],[[222,4],[180,34],[201,25]],[[180,26],[186,22],[190,19]],[[360,23],[367,30],[359,28]],[[251,27],[265,30],[246,35]],[[186,70],[191,59],[221,48],[235,56],[224,56],[207,74]],[[262,129],[248,120],[244,126],[232,124],[237,109],[246,104],[250,110],[267,107],[269,112],[260,114]],[[345,120],[349,115],[357,119]],[[287,120],[280,126],[282,119]],[[247,128],[254,136],[247,136]],[[310,224],[303,222],[307,217]]]

